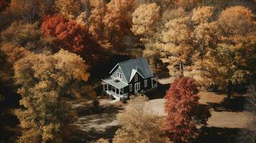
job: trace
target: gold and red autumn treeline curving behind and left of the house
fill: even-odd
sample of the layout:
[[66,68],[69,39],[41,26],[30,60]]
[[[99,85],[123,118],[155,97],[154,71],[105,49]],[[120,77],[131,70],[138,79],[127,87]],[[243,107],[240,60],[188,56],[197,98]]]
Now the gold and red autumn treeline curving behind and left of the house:
[[250,0],[1,0],[0,94],[11,89],[22,98],[19,142],[64,141],[75,117],[68,100],[94,95],[90,66],[136,46],[138,56],[199,86],[249,84],[255,7]]

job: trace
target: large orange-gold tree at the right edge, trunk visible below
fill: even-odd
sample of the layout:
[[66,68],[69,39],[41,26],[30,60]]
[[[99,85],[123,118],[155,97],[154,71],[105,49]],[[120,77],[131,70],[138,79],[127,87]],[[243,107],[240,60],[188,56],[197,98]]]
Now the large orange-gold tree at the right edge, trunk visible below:
[[247,83],[255,75],[256,23],[252,11],[243,6],[232,6],[219,15],[218,48],[209,52],[207,59],[214,84],[227,89],[230,98],[232,84]]

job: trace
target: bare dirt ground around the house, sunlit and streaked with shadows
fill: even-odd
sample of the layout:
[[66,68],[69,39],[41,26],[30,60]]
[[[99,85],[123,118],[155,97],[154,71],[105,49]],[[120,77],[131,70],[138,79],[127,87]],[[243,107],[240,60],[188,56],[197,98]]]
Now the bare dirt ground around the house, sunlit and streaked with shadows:
[[[163,116],[163,97],[169,84],[161,84],[156,92],[148,94],[154,114]],[[213,92],[200,92],[199,102],[206,104],[212,113],[208,120],[208,126],[202,129],[202,134],[196,143],[251,143],[244,138],[244,134],[250,134],[256,129],[255,117],[244,111],[243,104],[245,97],[236,95],[232,97],[229,105],[225,102],[225,94]],[[70,135],[70,142],[87,142],[97,140],[101,137],[105,139],[113,138],[119,124],[116,114],[123,110],[126,104],[110,104],[110,99],[100,100],[100,109],[95,111],[91,103],[75,101],[74,108],[78,111],[78,118],[73,123],[74,130]],[[231,106],[230,106],[231,105]],[[240,139],[240,137],[243,137]]]

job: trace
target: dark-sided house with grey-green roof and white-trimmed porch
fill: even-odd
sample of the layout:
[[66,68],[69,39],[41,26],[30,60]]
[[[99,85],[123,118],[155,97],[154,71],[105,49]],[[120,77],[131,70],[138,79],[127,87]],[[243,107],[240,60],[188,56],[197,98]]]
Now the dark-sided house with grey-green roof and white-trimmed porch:
[[157,79],[144,57],[123,61],[114,66],[110,77],[103,80],[103,90],[115,99],[127,99],[131,94],[157,88]]

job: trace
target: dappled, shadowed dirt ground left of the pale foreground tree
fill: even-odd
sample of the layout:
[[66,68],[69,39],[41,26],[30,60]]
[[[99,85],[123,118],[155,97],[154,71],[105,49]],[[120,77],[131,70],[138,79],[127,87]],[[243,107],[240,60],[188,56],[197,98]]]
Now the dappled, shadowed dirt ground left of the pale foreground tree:
[[122,109],[122,106],[115,104],[104,105],[97,110],[94,107],[80,107],[77,109],[79,118],[74,122],[69,142],[84,143],[113,138],[119,127],[116,114]]

